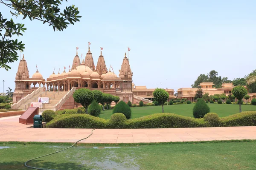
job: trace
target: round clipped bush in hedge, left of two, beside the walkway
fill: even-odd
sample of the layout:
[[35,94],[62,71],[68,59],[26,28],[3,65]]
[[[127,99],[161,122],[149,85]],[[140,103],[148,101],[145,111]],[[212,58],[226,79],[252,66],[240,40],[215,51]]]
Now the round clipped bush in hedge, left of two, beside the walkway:
[[111,128],[122,128],[125,126],[126,117],[123,113],[114,113],[111,115],[109,124]]

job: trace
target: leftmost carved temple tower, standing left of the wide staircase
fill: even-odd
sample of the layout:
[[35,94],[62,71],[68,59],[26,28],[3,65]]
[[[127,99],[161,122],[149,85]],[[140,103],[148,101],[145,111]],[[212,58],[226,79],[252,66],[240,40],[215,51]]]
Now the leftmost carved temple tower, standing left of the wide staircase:
[[23,54],[15,77],[15,90],[13,93],[14,103],[18,102],[20,99],[31,93],[31,83],[32,82],[29,81],[28,65]]

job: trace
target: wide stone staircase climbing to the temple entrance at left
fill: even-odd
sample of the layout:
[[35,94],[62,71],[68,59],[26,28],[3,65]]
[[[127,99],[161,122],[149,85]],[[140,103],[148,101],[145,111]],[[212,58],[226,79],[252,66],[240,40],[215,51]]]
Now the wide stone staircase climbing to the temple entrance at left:
[[48,97],[49,103],[44,103],[42,108],[39,108],[39,112],[43,112],[45,110],[53,110],[55,111],[55,105],[67,94],[67,91],[44,91],[39,96],[35,96],[32,100],[29,100],[22,105],[18,109],[26,110],[31,102],[38,102],[38,97]]

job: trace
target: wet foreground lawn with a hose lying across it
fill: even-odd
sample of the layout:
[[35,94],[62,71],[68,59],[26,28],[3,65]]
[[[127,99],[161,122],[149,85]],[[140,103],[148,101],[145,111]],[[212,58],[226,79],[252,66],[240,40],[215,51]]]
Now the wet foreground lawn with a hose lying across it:
[[[1,170],[27,170],[24,162],[70,146],[8,144],[0,149]],[[1,148],[1,147],[0,147]],[[29,162],[30,166],[61,170],[255,170],[256,141],[90,145]]]

